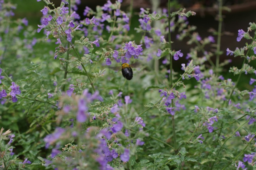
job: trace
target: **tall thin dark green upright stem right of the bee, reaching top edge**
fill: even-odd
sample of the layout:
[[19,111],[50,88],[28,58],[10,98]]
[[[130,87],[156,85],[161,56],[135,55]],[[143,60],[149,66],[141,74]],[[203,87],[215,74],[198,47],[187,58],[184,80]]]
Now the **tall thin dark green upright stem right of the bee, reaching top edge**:
[[[170,28],[170,0],[168,0],[168,40],[169,40],[169,48],[171,50],[171,28]],[[170,55],[170,87],[173,85],[173,62],[172,62],[172,55]],[[172,99],[172,107],[173,107],[173,99]],[[174,115],[172,115],[172,127],[173,127],[173,146],[176,148],[176,133],[175,133],[175,121]]]

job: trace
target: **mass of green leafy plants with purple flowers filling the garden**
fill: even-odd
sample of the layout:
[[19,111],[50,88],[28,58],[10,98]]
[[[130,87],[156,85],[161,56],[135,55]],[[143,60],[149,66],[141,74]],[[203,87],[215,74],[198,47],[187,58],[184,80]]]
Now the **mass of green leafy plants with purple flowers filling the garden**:
[[[86,7],[85,18],[78,0],[44,2],[35,30],[0,1],[0,169],[255,168],[256,79],[237,88],[256,74],[255,23],[238,30],[237,41],[251,42],[226,50],[244,59],[229,69],[234,82],[222,75],[231,60],[219,63],[221,27],[217,44],[201,38],[188,22],[195,12],[141,8],[136,42],[122,0]],[[194,45],[186,56],[172,48],[175,30]]]

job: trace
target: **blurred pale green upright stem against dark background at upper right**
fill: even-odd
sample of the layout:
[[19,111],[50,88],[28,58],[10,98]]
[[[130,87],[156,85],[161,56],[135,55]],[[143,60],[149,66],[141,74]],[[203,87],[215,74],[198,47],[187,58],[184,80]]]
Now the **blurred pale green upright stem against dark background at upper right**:
[[218,38],[217,38],[217,51],[216,51],[216,74],[219,72],[220,63],[220,39],[221,39],[221,27],[222,27],[222,0],[219,0],[219,27],[218,27]]

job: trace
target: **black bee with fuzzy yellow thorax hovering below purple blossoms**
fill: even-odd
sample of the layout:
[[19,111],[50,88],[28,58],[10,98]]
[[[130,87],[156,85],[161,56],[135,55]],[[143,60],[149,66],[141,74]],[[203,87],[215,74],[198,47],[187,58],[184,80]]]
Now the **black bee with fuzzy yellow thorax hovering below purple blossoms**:
[[123,77],[127,80],[131,80],[133,78],[133,69],[131,67],[137,67],[139,65],[139,62],[135,62],[131,65],[128,63],[122,63],[122,66],[120,67],[111,67],[114,70],[122,70]]

